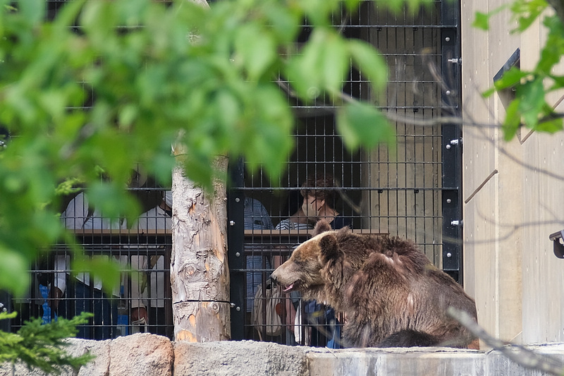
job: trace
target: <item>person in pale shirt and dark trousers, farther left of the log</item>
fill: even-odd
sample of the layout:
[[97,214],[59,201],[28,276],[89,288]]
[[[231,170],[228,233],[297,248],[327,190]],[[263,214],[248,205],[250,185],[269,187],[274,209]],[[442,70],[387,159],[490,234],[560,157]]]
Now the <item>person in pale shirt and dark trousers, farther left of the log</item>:
[[[92,209],[85,192],[80,192],[68,203],[61,214],[61,220],[67,229],[120,229],[118,220],[112,222],[104,217],[98,209]],[[106,257],[106,256],[99,256]],[[70,275],[70,256],[57,255],[55,257],[54,286],[50,291],[51,308],[59,315],[71,319],[82,312],[94,314],[90,325],[79,325],[78,338],[83,339],[111,339],[115,336],[118,309],[115,299],[102,291],[102,281],[94,279],[94,286],[90,286],[90,273],[78,273],[75,278]],[[119,296],[119,288],[112,293]]]

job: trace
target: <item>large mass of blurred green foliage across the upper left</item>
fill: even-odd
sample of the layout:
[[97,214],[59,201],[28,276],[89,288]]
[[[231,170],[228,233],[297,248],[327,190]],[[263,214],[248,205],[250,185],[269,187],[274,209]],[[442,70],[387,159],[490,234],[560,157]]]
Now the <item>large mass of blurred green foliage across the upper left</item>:
[[[0,147],[0,289],[24,293],[25,271],[50,244],[80,248],[57,217],[64,193],[87,187],[92,206],[132,223],[140,208],[123,189],[130,169],[140,163],[170,186],[171,145],[203,187],[217,155],[276,177],[293,147],[290,93],[336,105],[348,147],[393,140],[374,104],[343,101],[351,64],[375,91],[387,80],[374,47],[331,24],[359,3],[76,0],[47,20],[42,0],[0,0],[0,125],[11,134]],[[406,2],[385,4],[397,12]],[[298,45],[304,19],[311,33]]]

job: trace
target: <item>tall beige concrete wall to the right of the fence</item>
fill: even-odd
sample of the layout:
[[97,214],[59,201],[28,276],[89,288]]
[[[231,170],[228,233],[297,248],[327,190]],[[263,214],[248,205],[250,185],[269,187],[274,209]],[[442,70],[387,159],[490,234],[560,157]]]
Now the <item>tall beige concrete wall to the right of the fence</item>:
[[510,93],[480,95],[517,47],[522,68],[539,56],[540,25],[510,35],[510,15],[502,12],[489,32],[472,28],[476,11],[503,3],[461,3],[465,288],[491,334],[526,344],[561,341],[564,260],[553,255],[548,235],[564,229],[564,135],[522,130],[505,142],[497,125]]

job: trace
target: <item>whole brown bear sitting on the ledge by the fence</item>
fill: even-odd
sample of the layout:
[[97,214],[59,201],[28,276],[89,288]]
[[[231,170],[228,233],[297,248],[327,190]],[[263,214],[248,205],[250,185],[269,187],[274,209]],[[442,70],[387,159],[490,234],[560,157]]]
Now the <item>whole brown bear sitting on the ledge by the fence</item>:
[[286,293],[300,291],[344,313],[345,346],[477,348],[477,339],[446,315],[453,306],[476,320],[474,300],[415,243],[330,230],[318,222],[271,279]]

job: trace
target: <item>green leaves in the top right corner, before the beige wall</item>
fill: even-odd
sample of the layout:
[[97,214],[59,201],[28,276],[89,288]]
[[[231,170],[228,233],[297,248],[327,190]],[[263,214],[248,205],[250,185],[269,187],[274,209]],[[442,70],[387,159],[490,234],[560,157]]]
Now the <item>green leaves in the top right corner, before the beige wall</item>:
[[[547,11],[550,8],[553,11]],[[553,69],[564,54],[563,5],[558,0],[515,0],[489,13],[478,12],[474,27],[489,30],[491,18],[507,9],[517,25],[513,33],[524,32],[536,20],[541,20],[546,28],[546,42],[534,69],[524,71],[517,67],[510,68],[484,95],[487,97],[496,91],[515,90],[515,99],[508,106],[503,122],[505,140],[514,138],[520,126],[548,133],[560,131],[563,129],[564,114],[557,114],[546,97],[564,87],[564,75],[558,75]]]

